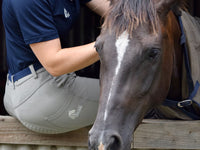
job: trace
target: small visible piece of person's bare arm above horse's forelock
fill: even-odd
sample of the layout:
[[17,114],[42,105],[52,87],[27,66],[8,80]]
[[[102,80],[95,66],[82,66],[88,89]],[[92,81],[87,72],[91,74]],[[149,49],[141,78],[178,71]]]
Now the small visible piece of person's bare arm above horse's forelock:
[[108,0],[92,0],[86,4],[92,11],[100,16],[104,16],[108,10],[110,1]]

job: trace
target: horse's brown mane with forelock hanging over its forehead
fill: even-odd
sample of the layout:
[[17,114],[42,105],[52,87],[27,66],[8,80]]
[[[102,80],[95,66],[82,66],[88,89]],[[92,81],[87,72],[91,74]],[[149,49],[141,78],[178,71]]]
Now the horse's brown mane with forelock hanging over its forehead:
[[[178,8],[185,10],[186,5],[187,0],[180,0]],[[114,29],[116,35],[126,30],[132,35],[133,29],[147,22],[156,33],[159,19],[153,0],[111,0],[102,29]]]

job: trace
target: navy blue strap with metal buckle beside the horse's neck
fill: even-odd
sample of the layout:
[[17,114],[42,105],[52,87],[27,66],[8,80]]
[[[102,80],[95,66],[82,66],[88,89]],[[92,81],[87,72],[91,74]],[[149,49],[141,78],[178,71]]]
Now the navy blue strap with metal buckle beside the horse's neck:
[[185,32],[184,32],[181,15],[178,14],[177,18],[178,18],[180,29],[181,29],[180,44],[182,46],[183,54],[184,54],[189,96],[188,96],[187,99],[182,100],[182,101],[175,101],[175,100],[171,100],[171,99],[166,99],[163,102],[163,105],[168,106],[168,107],[176,107],[176,108],[180,109],[182,112],[184,112],[186,115],[188,115],[190,118],[192,118],[193,120],[200,120],[200,116],[197,115],[195,110],[194,110],[194,105],[200,110],[200,104],[194,100],[194,97],[198,92],[200,84],[199,84],[199,81],[196,81],[195,85],[193,84],[194,82],[193,82],[192,75],[191,75],[188,48],[187,48],[187,44],[186,44],[186,35],[185,35]]

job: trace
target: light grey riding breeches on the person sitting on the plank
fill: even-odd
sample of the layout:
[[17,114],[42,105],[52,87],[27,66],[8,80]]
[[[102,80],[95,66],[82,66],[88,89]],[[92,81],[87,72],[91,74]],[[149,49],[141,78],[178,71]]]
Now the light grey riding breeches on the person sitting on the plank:
[[38,73],[36,79],[18,83],[13,91],[14,115],[26,127],[37,132],[75,130],[92,124],[96,117],[99,99],[97,79],[74,74],[52,77],[45,72]]

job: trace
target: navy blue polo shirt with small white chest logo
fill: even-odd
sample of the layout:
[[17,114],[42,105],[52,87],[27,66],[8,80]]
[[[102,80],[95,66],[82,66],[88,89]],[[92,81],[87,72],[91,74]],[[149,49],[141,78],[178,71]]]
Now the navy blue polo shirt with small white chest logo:
[[60,38],[63,45],[79,15],[80,3],[88,1],[3,0],[9,73],[13,75],[39,62],[29,44]]

